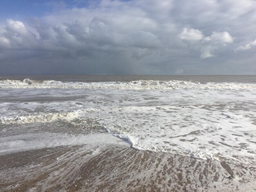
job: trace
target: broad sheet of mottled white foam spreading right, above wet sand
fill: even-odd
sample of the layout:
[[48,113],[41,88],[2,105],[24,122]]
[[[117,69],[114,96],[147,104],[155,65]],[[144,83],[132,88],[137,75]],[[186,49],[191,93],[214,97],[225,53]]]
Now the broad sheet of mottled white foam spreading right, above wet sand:
[[137,150],[240,162],[256,156],[252,114],[245,117],[242,111],[209,112],[201,107],[118,107],[110,109],[111,118],[104,118],[110,112],[108,109],[100,114],[98,111],[98,115],[108,132]]

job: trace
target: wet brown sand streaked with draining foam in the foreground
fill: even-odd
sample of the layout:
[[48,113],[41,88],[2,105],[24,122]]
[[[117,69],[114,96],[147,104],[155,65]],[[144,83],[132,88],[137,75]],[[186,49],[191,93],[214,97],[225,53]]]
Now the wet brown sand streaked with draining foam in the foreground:
[[[110,146],[0,156],[0,191],[255,191],[256,167]],[[233,178],[234,175],[234,178]]]

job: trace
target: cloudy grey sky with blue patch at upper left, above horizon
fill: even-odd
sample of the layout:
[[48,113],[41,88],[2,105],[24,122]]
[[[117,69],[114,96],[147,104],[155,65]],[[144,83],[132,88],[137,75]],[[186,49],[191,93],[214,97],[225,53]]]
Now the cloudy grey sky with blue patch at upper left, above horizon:
[[1,0],[0,75],[256,74],[256,0]]

